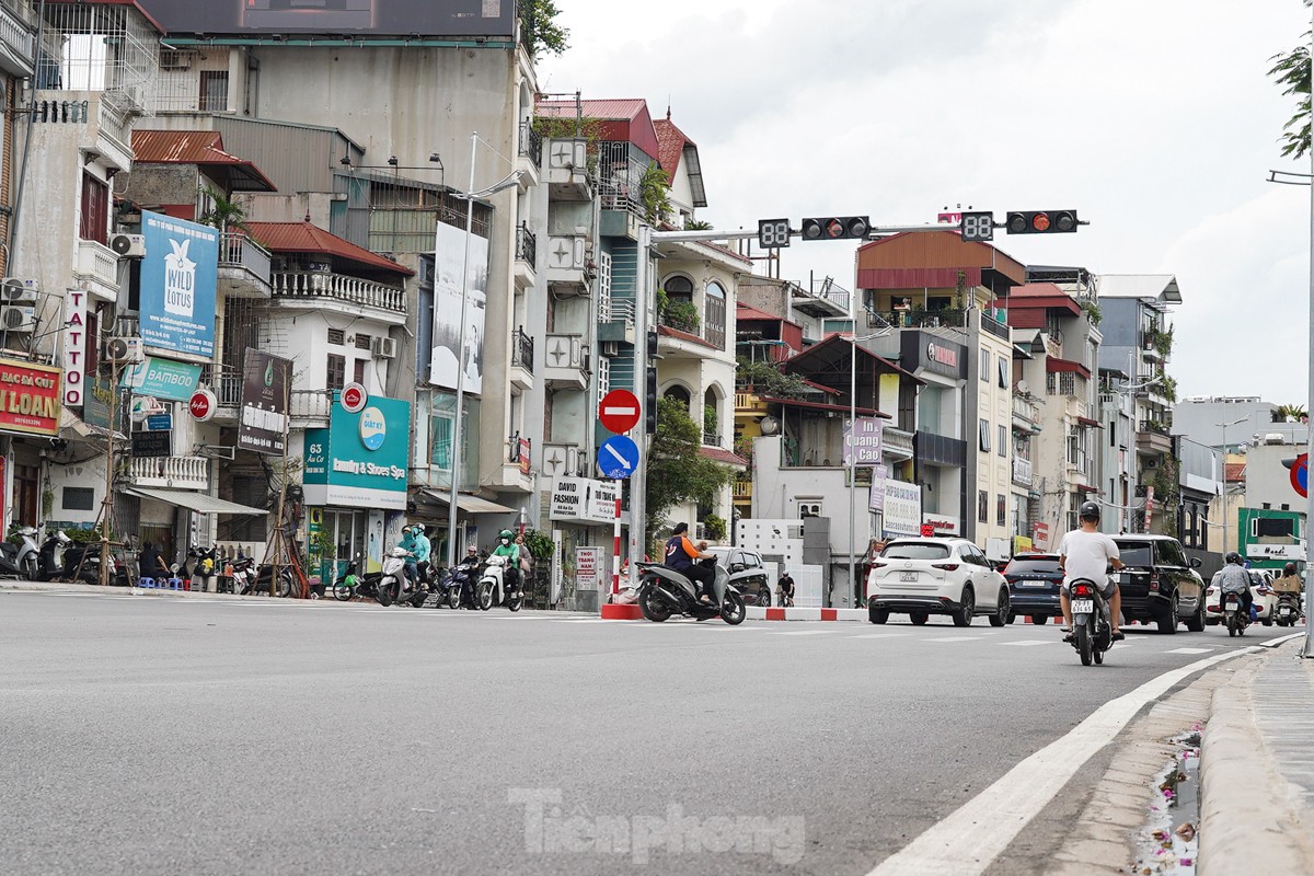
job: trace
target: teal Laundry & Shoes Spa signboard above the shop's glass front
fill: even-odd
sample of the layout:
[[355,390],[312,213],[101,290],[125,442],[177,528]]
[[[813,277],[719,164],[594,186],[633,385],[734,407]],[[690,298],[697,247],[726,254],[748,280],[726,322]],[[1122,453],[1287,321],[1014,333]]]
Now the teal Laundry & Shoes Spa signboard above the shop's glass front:
[[352,414],[336,399],[328,428],[306,429],[306,504],[406,510],[410,402],[374,395]]

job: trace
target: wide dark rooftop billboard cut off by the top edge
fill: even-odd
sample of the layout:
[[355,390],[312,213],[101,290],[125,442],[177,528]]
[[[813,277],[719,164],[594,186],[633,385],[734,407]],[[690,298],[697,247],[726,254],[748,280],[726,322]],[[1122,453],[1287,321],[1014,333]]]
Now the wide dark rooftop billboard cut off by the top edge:
[[171,35],[515,35],[515,0],[139,0]]

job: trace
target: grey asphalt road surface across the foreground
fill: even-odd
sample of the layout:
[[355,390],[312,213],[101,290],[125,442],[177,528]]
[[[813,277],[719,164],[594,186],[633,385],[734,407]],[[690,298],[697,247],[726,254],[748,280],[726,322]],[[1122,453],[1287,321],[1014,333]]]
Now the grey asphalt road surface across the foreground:
[[1131,626],[1083,667],[983,619],[0,591],[0,871],[862,875],[1105,703],[1282,632]]

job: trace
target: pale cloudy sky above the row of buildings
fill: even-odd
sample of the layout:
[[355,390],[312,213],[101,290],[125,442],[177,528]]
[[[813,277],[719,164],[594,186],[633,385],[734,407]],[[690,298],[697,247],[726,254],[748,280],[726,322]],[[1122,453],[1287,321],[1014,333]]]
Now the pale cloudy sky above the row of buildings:
[[[716,229],[946,206],[1076,209],[1005,235],[1028,264],[1171,273],[1179,398],[1309,399],[1310,189],[1269,171],[1296,102],[1267,75],[1301,0],[557,0],[544,92],[644,97],[698,143]],[[798,227],[798,225],[795,225]],[[782,276],[854,288],[849,242],[794,239]]]

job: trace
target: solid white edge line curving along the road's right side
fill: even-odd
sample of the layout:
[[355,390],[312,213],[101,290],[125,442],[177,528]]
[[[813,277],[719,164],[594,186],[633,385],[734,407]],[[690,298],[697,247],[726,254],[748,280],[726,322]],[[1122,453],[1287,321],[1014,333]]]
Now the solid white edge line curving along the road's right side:
[[1177,682],[1259,646],[1214,654],[1109,700],[1062,738],[1009,770],[986,791],[880,862],[869,876],[979,876],[1087,760],[1141,708]]

